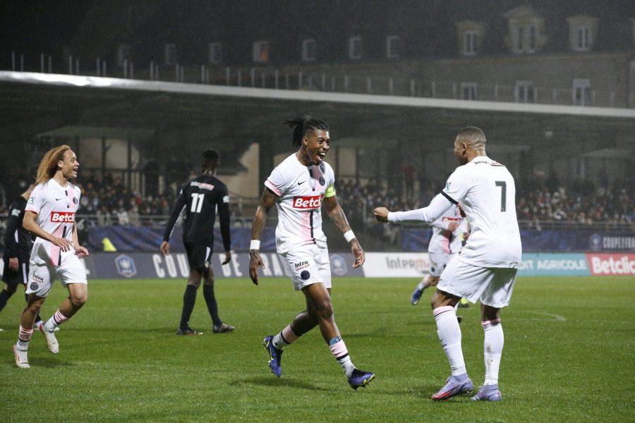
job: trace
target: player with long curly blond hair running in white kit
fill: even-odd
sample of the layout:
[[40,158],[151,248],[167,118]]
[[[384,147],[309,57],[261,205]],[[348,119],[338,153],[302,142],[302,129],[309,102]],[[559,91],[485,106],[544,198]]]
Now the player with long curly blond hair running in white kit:
[[75,212],[80,189],[68,182],[77,178],[79,167],[71,147],[60,145],[50,149],[37,168],[35,188],[27,202],[23,226],[37,236],[30,258],[26,293],[29,301],[20,318],[18,342],[13,345],[16,365],[28,369],[27,350],[35,317],[49,295],[55,278],[68,288],[68,298],[46,323],[38,328],[44,333],[47,347],[59,353],[54,331],[85,304],[88,298],[86,271],[80,259],[88,255],[77,238]]

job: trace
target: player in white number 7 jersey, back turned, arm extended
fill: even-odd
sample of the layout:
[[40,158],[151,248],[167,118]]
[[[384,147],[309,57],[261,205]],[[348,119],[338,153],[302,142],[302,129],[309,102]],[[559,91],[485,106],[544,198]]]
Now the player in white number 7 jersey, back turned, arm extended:
[[500,309],[509,305],[521,261],[521,239],[516,220],[516,188],[507,168],[485,154],[485,134],[469,126],[454,141],[459,167],[450,175],[441,192],[428,207],[409,212],[389,212],[377,207],[377,220],[433,222],[447,209],[461,202],[472,228],[459,255],[441,274],[432,299],[437,333],[447,355],[452,376],[432,396],[445,400],[473,389],[461,349],[461,328],[454,305],[460,298],[480,300],[480,317],[485,331],[483,354],[485,382],[472,400],[498,401],[498,370],[503,348]]

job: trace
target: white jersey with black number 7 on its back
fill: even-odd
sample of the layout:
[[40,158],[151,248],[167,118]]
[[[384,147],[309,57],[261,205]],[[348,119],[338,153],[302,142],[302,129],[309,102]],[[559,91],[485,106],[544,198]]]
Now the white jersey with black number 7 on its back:
[[442,195],[461,202],[471,233],[459,260],[474,266],[512,267],[521,261],[516,220],[516,185],[507,168],[489,157],[476,157],[456,168]]

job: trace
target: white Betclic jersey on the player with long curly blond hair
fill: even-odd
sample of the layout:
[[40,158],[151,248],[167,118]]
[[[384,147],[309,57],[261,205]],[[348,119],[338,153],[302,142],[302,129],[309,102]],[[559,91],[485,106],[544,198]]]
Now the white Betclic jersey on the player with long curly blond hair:
[[[68,183],[62,187],[54,179],[37,185],[29,198],[25,210],[37,213],[37,224],[57,238],[73,240],[75,212],[79,206],[81,191]],[[64,255],[75,254],[75,250],[61,252],[60,248],[40,237],[35,238],[31,250],[31,263],[59,266]]]

